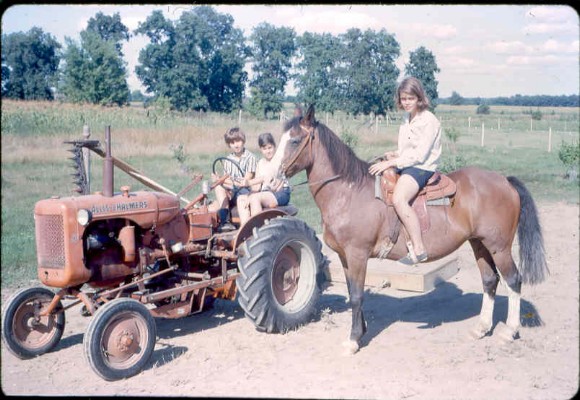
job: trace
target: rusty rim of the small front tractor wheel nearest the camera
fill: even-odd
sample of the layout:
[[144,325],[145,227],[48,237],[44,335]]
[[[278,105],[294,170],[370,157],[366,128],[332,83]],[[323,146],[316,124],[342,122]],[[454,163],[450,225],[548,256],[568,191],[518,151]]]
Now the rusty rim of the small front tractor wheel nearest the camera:
[[147,322],[142,315],[127,311],[113,318],[103,332],[103,360],[113,369],[127,369],[141,360],[149,340]]

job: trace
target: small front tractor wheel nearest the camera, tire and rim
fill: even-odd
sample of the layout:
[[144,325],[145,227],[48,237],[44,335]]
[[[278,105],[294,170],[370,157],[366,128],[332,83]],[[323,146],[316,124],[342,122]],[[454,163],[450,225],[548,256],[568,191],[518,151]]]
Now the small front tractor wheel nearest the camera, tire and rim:
[[85,356],[101,378],[129,378],[145,367],[155,339],[155,320],[147,307],[137,300],[119,298],[99,308],[89,323]]

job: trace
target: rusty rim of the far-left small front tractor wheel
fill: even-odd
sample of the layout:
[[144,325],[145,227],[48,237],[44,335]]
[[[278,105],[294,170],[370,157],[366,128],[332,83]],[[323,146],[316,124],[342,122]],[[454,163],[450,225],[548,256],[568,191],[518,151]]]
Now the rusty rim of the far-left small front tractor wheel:
[[[45,310],[51,299],[34,297],[22,303],[14,314],[12,333],[14,339],[28,350],[41,349],[57,334],[56,315],[35,317]],[[36,313],[35,313],[36,310]]]

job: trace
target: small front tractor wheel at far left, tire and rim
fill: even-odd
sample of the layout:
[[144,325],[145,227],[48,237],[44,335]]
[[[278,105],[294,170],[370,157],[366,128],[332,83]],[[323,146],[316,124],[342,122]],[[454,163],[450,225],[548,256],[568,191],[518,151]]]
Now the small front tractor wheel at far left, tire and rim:
[[28,359],[47,353],[60,341],[65,317],[59,301],[55,312],[41,317],[54,298],[42,287],[21,289],[8,300],[2,321],[2,339],[12,354]]

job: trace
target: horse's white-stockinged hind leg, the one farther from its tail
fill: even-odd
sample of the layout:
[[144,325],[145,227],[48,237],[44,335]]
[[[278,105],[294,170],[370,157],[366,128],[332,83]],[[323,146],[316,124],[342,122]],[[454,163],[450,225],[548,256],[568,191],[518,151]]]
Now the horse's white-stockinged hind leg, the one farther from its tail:
[[481,339],[490,331],[493,324],[493,308],[495,305],[495,293],[499,283],[499,277],[495,268],[494,260],[483,243],[479,239],[469,241],[473,254],[481,274],[483,284],[483,299],[481,312],[477,324],[470,330],[470,335],[475,339]]

